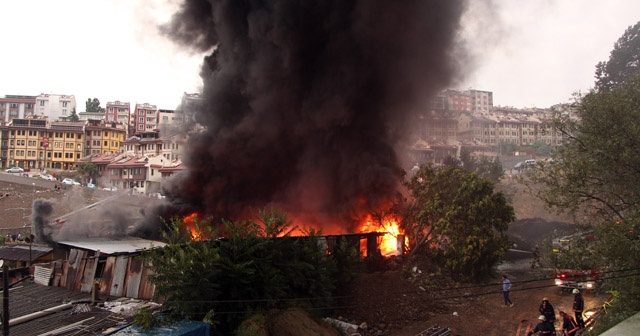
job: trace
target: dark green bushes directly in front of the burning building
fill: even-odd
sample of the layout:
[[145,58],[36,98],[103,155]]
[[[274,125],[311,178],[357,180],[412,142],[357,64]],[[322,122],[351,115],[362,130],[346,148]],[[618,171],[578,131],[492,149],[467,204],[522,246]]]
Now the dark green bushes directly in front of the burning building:
[[339,244],[329,255],[313,231],[290,236],[292,223],[274,209],[258,211],[255,220],[223,221],[226,236],[215,241],[188,241],[182,225],[173,221],[168,245],[145,254],[150,279],[174,313],[212,320],[222,334],[255,312],[330,307],[336,284],[349,280],[353,251]]

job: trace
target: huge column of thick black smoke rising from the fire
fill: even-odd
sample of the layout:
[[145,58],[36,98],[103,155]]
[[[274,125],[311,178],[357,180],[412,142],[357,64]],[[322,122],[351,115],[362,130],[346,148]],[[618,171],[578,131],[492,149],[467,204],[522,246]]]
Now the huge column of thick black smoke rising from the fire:
[[[193,0],[164,31],[204,60],[206,131],[175,206],[352,223],[403,176],[413,113],[456,76],[461,0]],[[186,210],[186,209],[185,209]],[[345,227],[346,229],[346,227]]]

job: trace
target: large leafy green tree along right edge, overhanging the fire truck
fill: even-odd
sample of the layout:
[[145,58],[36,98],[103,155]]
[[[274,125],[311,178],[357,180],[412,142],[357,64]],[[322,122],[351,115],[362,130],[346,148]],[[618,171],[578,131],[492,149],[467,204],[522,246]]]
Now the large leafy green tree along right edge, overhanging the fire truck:
[[575,114],[555,116],[566,140],[554,163],[529,176],[549,207],[582,214],[580,224],[596,232],[583,256],[606,270],[604,288],[619,295],[596,334],[640,311],[640,78],[617,81],[579,97]]

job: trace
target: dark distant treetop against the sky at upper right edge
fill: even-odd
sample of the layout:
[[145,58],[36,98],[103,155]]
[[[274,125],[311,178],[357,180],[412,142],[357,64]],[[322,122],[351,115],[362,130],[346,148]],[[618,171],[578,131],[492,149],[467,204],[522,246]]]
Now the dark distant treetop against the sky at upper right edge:
[[640,75],[640,22],[616,41],[609,61],[596,65],[596,88],[610,89]]

